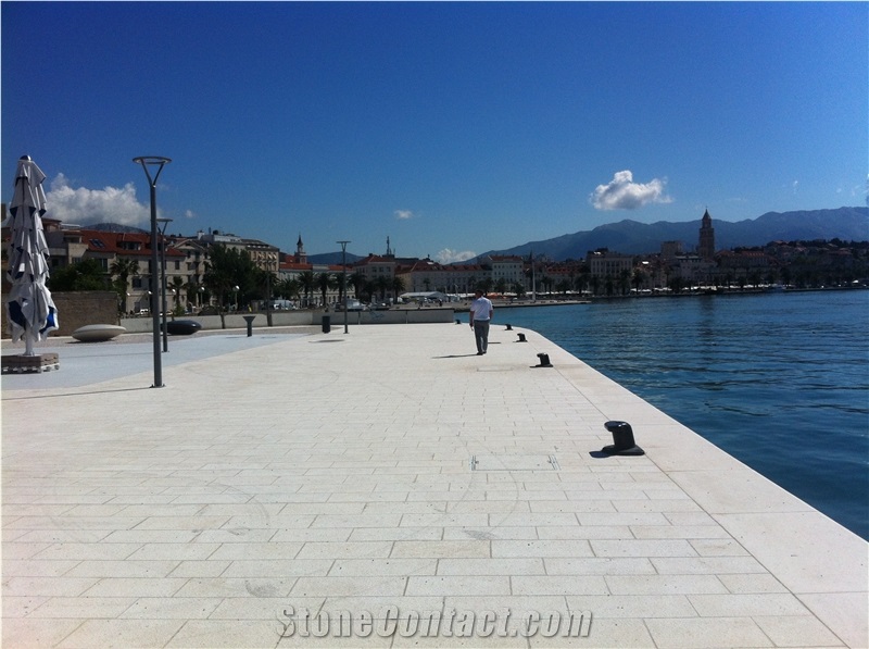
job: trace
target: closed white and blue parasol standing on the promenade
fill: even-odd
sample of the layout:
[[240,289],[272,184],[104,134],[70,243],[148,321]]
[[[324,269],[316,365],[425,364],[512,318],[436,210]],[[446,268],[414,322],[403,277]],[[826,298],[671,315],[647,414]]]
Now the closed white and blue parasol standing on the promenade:
[[49,277],[49,251],[42,230],[46,192],[42,173],[29,155],[18,160],[15,172],[15,195],[10,203],[9,269],[7,279],[12,289],[7,298],[7,316],[12,341],[25,341],[24,355],[36,355],[34,342],[58,328],[58,309],[46,286]]

